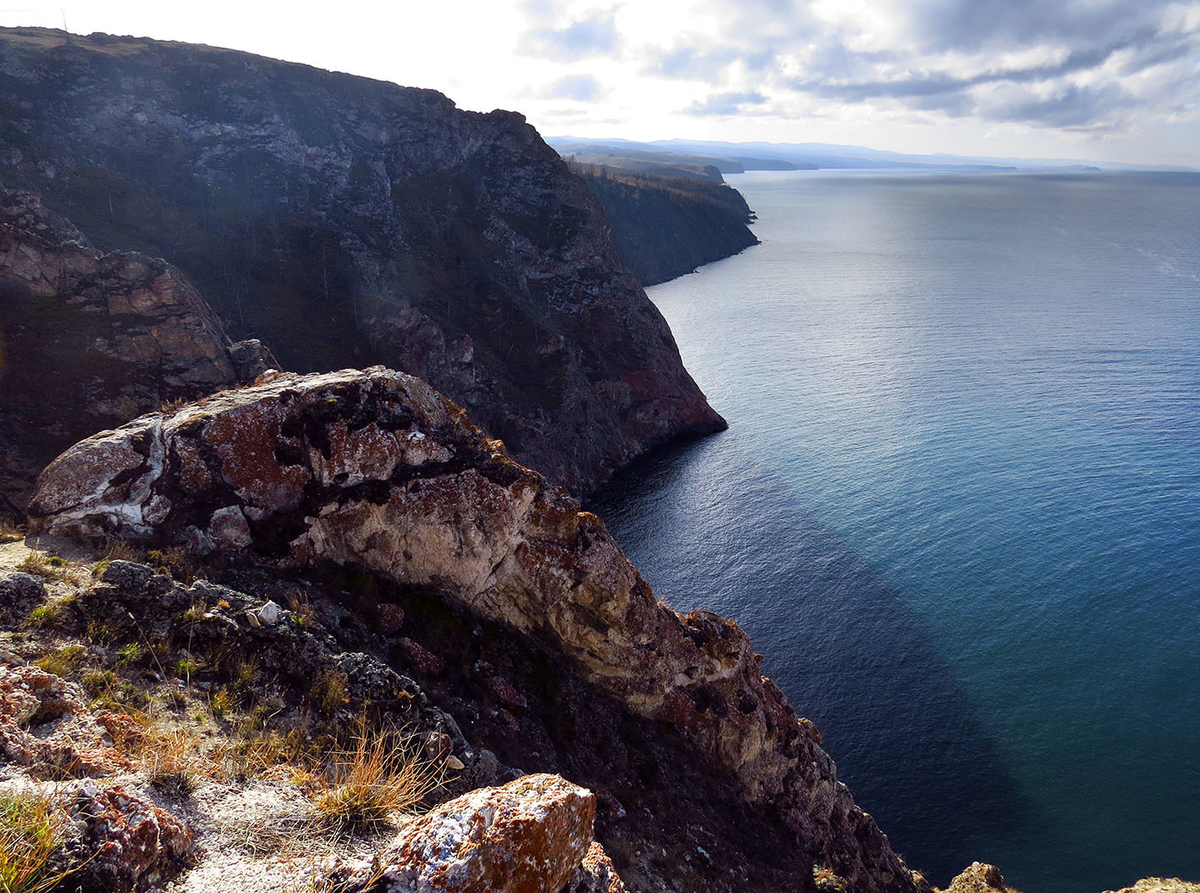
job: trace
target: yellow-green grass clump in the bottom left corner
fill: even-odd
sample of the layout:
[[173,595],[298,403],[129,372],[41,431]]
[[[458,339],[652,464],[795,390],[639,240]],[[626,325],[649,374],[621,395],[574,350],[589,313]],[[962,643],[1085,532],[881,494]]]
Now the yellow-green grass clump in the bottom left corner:
[[38,793],[0,795],[0,889],[4,893],[43,893],[64,874],[49,869],[49,858],[62,840],[67,817]]

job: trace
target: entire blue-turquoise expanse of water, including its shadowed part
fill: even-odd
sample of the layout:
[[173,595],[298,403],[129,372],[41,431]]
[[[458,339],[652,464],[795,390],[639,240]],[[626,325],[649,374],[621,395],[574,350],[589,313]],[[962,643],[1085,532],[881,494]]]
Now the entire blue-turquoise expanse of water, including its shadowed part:
[[1200,881],[1200,175],[731,182],[650,289],[731,428],[592,508],[935,882]]

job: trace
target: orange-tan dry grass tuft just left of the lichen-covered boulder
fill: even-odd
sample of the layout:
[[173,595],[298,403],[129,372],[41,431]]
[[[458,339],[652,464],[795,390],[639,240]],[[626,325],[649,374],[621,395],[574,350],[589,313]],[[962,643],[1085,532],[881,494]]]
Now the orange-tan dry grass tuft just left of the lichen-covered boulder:
[[419,807],[444,780],[444,765],[431,762],[402,730],[372,735],[360,729],[348,749],[332,755],[314,803],[329,823],[370,831]]

